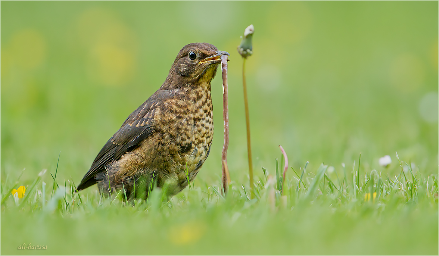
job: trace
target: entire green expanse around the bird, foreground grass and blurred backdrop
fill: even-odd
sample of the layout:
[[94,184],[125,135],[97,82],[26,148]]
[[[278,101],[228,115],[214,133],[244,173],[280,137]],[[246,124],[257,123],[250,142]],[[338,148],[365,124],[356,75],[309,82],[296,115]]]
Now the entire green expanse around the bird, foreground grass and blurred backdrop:
[[[1,254],[438,254],[437,1],[0,4]],[[236,51],[250,24],[253,200]],[[227,197],[219,72],[190,187],[134,206],[73,193],[193,42],[230,53]]]

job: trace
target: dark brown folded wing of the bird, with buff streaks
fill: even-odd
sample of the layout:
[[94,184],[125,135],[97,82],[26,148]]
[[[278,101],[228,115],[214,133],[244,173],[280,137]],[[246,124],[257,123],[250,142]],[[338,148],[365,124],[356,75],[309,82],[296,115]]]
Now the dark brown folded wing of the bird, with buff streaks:
[[118,160],[126,152],[133,151],[140,143],[155,133],[154,115],[163,102],[175,97],[178,90],[158,90],[125,120],[120,129],[111,137],[97,154],[89,171],[85,174],[78,191],[96,184],[96,175],[105,171],[108,162]]

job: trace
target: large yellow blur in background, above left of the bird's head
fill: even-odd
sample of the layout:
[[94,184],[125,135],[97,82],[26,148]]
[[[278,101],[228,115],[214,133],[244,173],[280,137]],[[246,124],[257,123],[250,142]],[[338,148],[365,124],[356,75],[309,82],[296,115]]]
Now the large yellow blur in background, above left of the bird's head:
[[106,86],[130,82],[137,66],[138,40],[116,14],[91,8],[77,20],[79,43],[88,53],[90,78]]

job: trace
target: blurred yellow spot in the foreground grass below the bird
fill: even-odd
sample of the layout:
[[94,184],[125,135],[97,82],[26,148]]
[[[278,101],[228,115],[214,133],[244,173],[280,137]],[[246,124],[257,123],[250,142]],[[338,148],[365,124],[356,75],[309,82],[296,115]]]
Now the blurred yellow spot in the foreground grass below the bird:
[[186,245],[198,241],[205,233],[205,225],[191,222],[169,229],[169,239],[175,245]]

